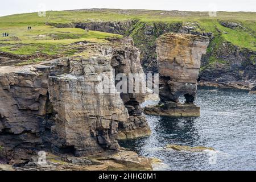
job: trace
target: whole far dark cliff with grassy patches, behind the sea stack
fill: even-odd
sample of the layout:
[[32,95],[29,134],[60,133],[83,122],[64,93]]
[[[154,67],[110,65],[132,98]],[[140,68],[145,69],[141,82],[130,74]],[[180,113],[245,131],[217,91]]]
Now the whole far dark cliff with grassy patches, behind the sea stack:
[[[89,20],[90,21],[90,20]],[[93,20],[92,20],[93,21]],[[222,32],[206,32],[203,24],[198,22],[143,22],[126,20],[122,22],[88,22],[88,23],[50,23],[56,27],[90,27],[91,30],[129,35],[135,46],[141,50],[141,62],[146,73],[157,73],[156,39],[168,32],[203,35],[210,38],[207,55],[201,59],[199,84],[220,88],[250,90],[256,83],[256,52],[241,48],[222,38]],[[234,30],[247,31],[240,23],[223,22],[218,24]],[[247,29],[250,29],[247,27]],[[199,31],[200,30],[200,31]],[[225,32],[223,32],[225,34]],[[215,63],[214,63],[215,62]]]

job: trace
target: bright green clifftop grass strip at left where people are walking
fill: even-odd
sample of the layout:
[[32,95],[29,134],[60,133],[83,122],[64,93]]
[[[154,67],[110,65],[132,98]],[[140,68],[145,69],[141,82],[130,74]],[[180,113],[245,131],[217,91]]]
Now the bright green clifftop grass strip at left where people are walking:
[[[32,30],[27,30],[25,26],[0,26],[0,32],[9,32],[9,37],[1,35],[0,43],[19,43],[19,42],[47,42],[47,40],[60,40],[59,43],[70,43],[69,39],[83,39],[90,42],[101,42],[102,39],[113,36],[106,32],[89,31],[85,32],[81,28],[55,28],[51,26],[34,26]],[[16,37],[19,41],[12,41],[12,37]],[[10,40],[7,42],[6,40]],[[68,40],[68,41],[67,41]],[[77,41],[77,40],[75,40]],[[104,40],[105,41],[105,40]]]

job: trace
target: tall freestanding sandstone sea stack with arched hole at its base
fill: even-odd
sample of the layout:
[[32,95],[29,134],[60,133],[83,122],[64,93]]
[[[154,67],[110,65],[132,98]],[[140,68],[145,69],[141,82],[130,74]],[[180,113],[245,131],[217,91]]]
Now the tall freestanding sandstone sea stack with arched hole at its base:
[[[193,104],[201,56],[206,53],[209,39],[201,35],[164,34],[158,38],[159,105],[147,106],[146,114],[172,117],[200,115]],[[179,97],[185,97],[180,104]]]

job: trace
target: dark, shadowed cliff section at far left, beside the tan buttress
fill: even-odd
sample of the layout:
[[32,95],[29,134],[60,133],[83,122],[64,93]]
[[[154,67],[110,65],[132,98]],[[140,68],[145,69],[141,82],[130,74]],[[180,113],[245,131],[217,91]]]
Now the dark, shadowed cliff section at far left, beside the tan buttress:
[[[42,145],[50,122],[46,117],[48,81],[38,75],[36,68],[0,68],[0,145],[19,147],[21,143],[32,147]],[[50,118],[49,118],[50,120]]]

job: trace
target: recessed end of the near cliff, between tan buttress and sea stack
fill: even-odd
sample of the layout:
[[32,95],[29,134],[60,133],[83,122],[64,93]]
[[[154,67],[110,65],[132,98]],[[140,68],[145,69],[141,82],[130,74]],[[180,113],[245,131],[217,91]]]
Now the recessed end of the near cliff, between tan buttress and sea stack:
[[[141,67],[139,52],[137,49],[130,49],[129,51],[119,50],[112,57],[111,65],[115,70],[115,75],[124,74],[127,77],[127,90],[132,86],[134,90],[135,85],[129,85],[130,73],[143,73]],[[119,81],[116,81],[116,84]],[[140,85],[141,86],[141,85]],[[142,115],[142,108],[140,104],[144,102],[146,93],[121,93],[121,98],[130,115],[128,122],[119,122],[118,138],[119,140],[133,139],[150,135],[151,131],[147,125],[146,118]]]

